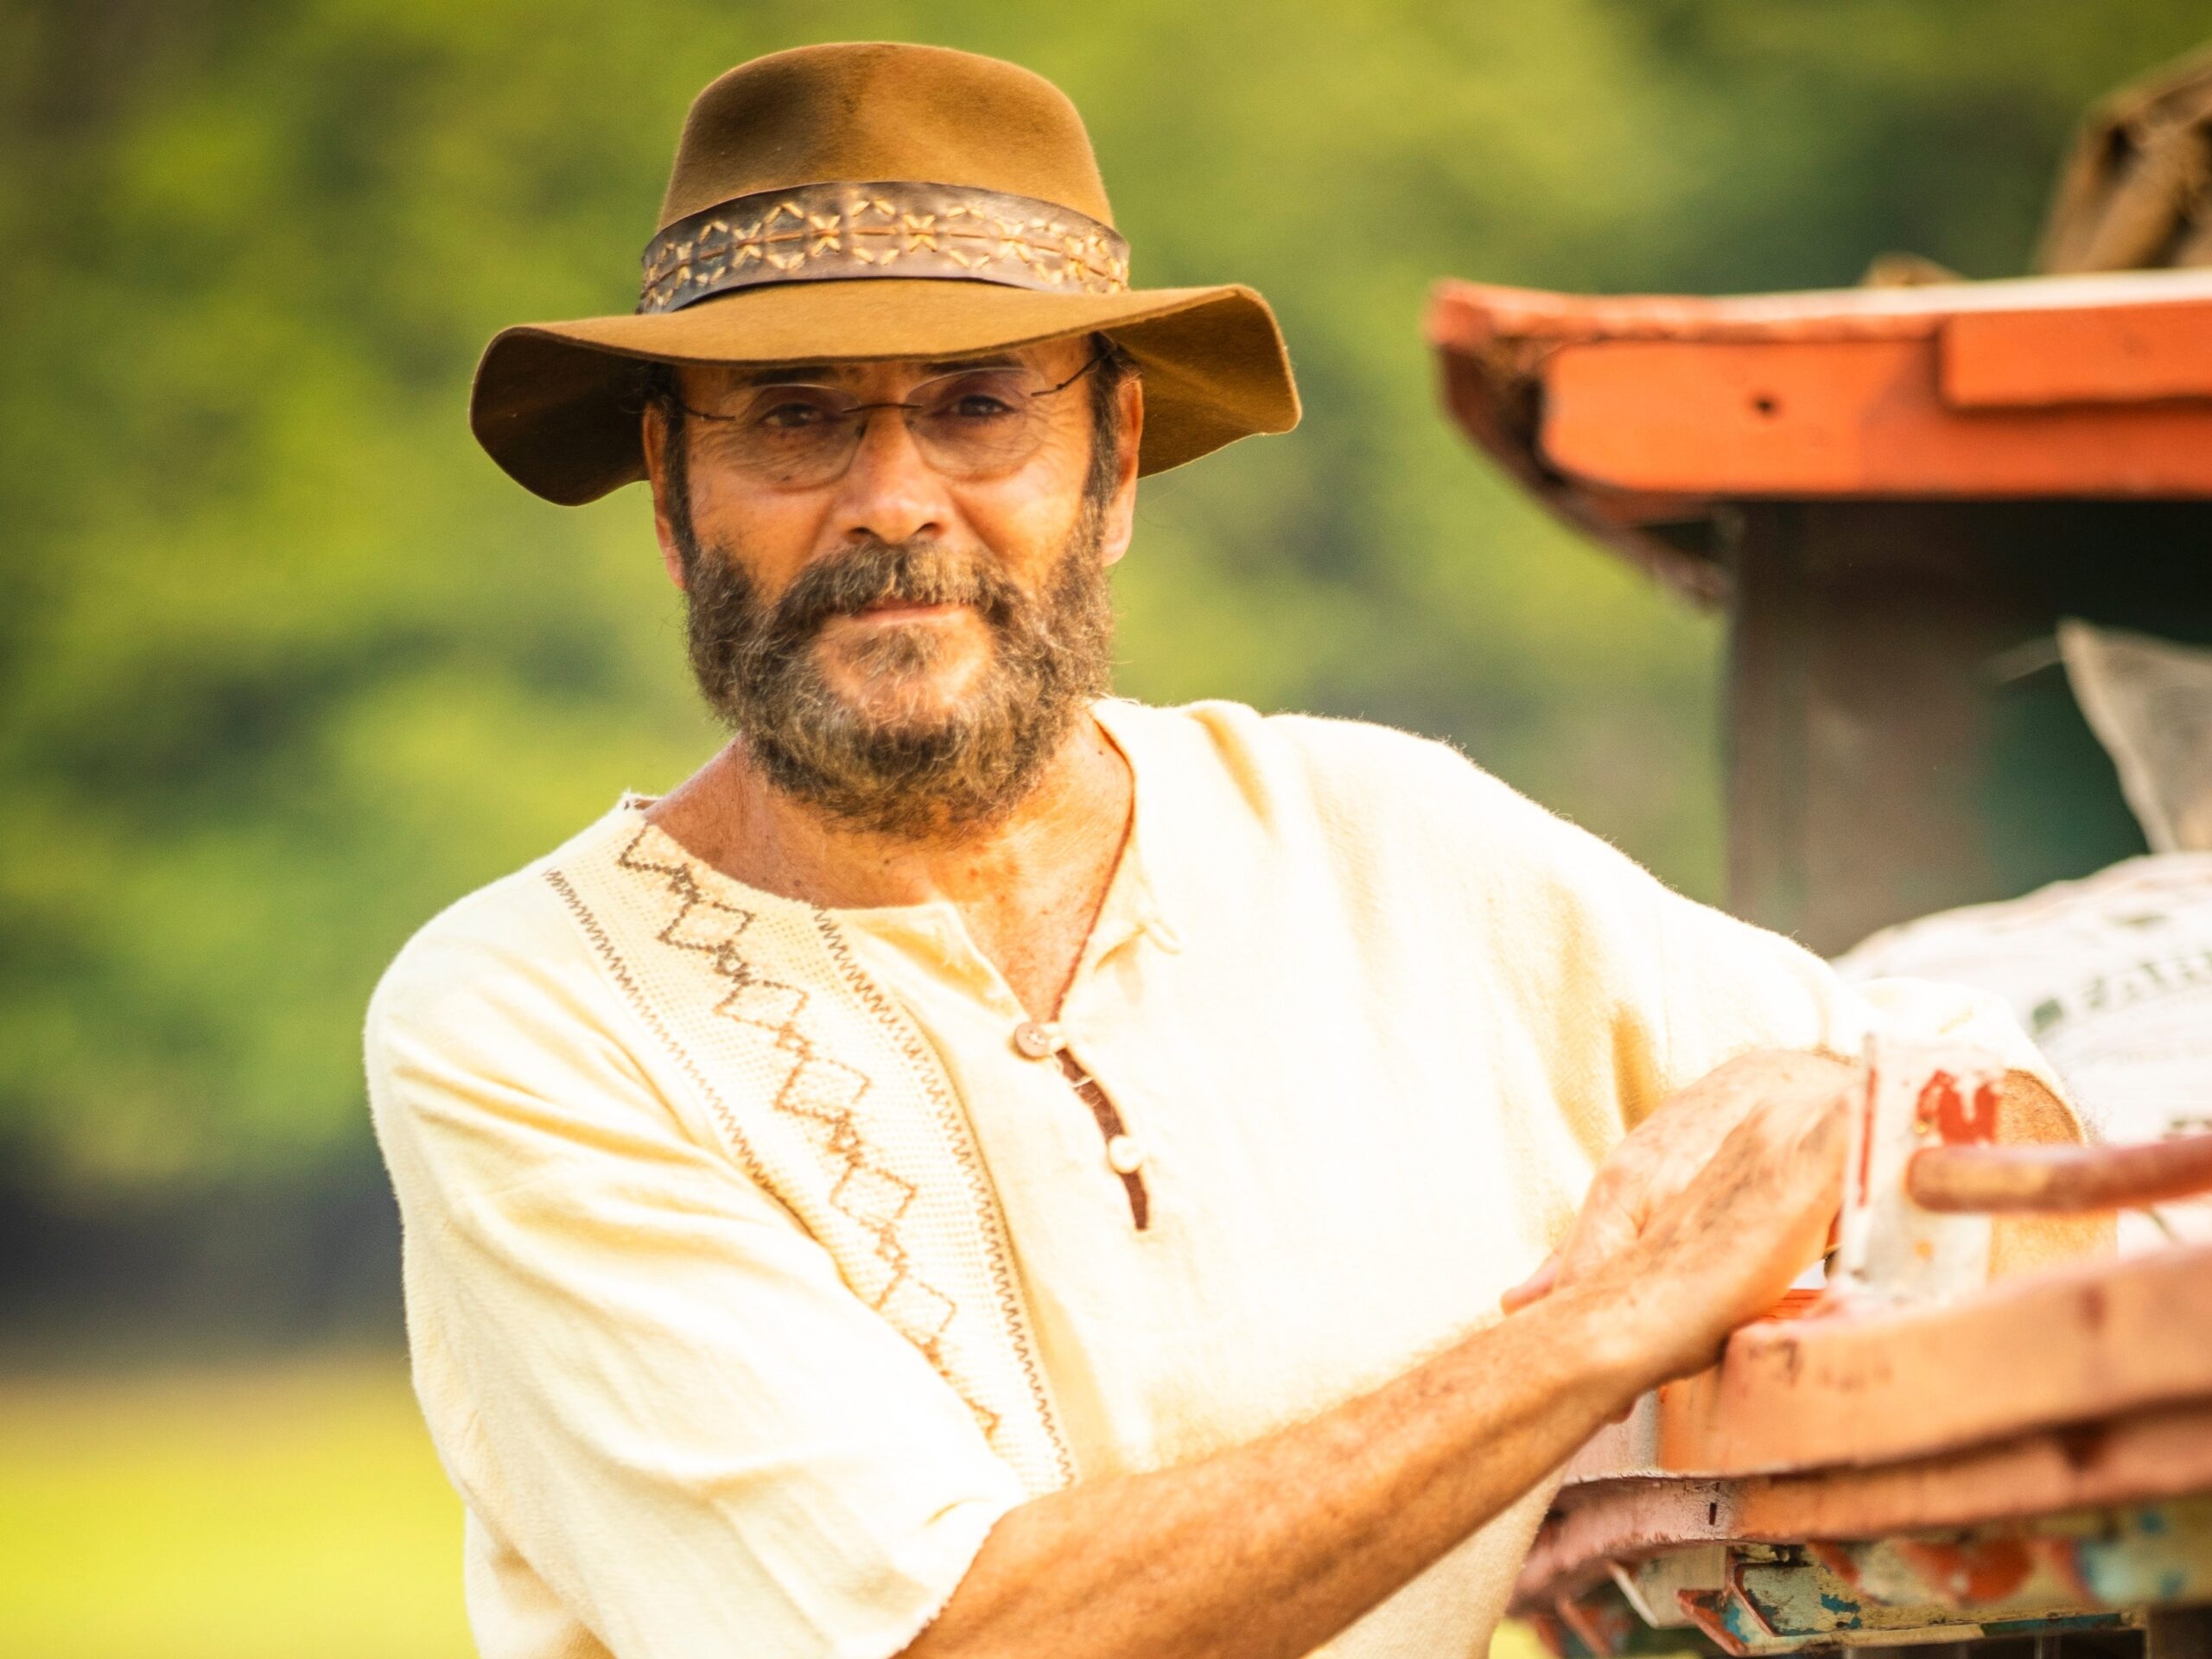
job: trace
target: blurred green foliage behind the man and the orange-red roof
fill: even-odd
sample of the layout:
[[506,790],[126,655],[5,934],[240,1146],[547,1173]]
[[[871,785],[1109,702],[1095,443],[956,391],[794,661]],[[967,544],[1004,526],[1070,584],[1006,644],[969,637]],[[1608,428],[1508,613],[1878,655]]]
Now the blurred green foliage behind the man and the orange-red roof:
[[[1281,307],[1310,416],[1148,487],[1124,688],[1460,741],[1714,894],[1717,635],[1438,414],[1440,274],[2024,261],[2183,0],[13,0],[0,7],[0,1137],[62,1190],[354,1148],[436,907],[714,743],[639,491],[469,442],[482,341],[624,310],[690,93],[918,38],[1086,111],[1146,283]],[[1380,234],[1378,234],[1380,232]]]

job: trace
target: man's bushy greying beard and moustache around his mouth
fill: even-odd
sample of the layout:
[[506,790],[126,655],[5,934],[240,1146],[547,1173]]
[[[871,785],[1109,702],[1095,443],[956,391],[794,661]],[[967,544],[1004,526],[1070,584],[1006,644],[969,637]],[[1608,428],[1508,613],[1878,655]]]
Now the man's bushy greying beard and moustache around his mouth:
[[[1113,595],[1093,504],[1037,595],[980,553],[860,542],[810,564],[765,606],[728,551],[679,551],[690,666],[708,706],[772,787],[860,830],[920,838],[1004,821],[1113,684]],[[982,617],[991,661],[953,708],[874,717],[830,686],[823,626],[885,599],[967,604]],[[918,677],[942,648],[931,630],[898,628],[865,641],[858,666]]]

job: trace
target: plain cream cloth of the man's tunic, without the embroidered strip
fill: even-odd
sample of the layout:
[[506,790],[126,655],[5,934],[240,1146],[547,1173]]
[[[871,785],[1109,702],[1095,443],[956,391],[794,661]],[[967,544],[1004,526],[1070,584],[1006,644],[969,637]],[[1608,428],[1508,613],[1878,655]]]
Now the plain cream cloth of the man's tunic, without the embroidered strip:
[[[1734,1053],[1856,1053],[1880,1018],[2037,1066],[1991,1000],[1845,991],[1442,745],[1223,703],[1097,717],[1135,825],[1044,1042],[949,905],[825,918],[973,1126],[1084,1480],[1296,1422],[1491,1318],[1606,1148]],[[677,1108],[681,1060],[546,883],[431,922],[367,1048],[484,1652],[911,1641],[1024,1491]],[[1327,1652],[1480,1652],[1542,1502]]]

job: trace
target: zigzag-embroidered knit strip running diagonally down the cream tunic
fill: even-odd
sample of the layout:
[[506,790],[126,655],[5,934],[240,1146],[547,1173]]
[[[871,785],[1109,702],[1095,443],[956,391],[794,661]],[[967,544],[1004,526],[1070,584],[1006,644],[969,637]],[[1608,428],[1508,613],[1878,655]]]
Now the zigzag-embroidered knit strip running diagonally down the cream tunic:
[[1031,1493],[1071,1484],[998,1190],[933,1046],[825,911],[750,896],[681,845],[653,845],[659,832],[635,816],[606,830],[577,865],[540,874],[639,1035],[677,1062],[712,1139],[951,1387]]

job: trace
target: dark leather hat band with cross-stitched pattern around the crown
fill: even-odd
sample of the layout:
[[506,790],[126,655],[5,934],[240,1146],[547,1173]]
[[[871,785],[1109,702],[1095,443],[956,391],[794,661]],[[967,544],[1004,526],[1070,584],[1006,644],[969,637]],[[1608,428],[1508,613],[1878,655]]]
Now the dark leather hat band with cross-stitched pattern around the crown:
[[1055,201],[958,184],[803,184],[677,219],[646,243],[639,312],[765,283],[949,276],[1119,294],[1128,243]]

